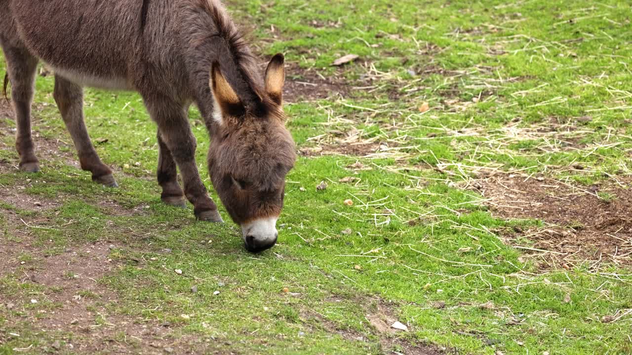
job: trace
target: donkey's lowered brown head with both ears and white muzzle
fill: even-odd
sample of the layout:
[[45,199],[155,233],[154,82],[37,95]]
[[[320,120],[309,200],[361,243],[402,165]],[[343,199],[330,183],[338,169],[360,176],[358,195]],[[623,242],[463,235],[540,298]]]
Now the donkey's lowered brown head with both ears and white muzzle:
[[284,126],[284,80],[283,56],[277,54],[265,71],[264,92],[253,104],[235,92],[218,64],[210,75],[216,129],[209,147],[209,174],[250,251],[276,243],[285,176],[296,160],[294,141]]

